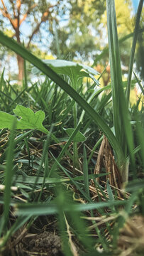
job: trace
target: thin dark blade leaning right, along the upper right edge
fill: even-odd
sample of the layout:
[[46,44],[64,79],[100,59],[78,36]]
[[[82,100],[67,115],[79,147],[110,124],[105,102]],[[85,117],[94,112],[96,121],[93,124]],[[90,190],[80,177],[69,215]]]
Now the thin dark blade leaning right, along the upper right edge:
[[137,38],[138,38],[138,26],[139,26],[139,23],[140,23],[140,15],[141,15],[141,12],[142,12],[142,8],[143,8],[143,0],[140,0],[139,5],[138,5],[137,15],[136,15],[135,30],[134,30],[134,33],[133,33],[133,44],[132,44],[132,48],[131,48],[131,57],[130,57],[130,63],[129,63],[129,69],[128,69],[128,86],[126,88],[127,103],[129,102],[129,97],[130,97],[131,76],[132,76],[132,71],[133,71],[135,46],[136,46],[136,41],[137,41]]

